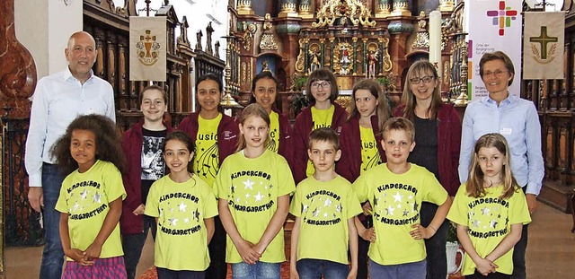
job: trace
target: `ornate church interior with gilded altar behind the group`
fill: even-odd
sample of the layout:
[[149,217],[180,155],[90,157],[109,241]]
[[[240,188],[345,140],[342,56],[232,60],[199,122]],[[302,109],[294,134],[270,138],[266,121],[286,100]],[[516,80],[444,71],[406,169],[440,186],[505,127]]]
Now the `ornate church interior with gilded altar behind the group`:
[[[473,97],[468,88],[472,71],[468,63],[471,58],[469,34],[464,26],[465,16],[473,11],[466,9],[467,1],[40,1],[47,8],[42,9],[48,12],[16,2],[19,1],[5,0],[0,7],[0,31],[4,36],[0,40],[3,64],[0,69],[0,193],[4,196],[0,199],[0,277],[4,278],[37,278],[39,274],[43,243],[40,214],[28,205],[27,174],[23,169],[23,148],[31,112],[29,98],[37,80],[51,74],[58,63],[65,63],[52,65],[53,59],[63,60],[64,56],[63,48],[53,49],[54,43],[49,38],[58,32],[57,24],[65,26],[66,22],[54,23],[54,26],[50,23],[42,30],[43,34],[31,36],[40,23],[31,20],[29,15],[49,13],[41,18],[51,21],[58,17],[58,9],[73,8],[66,12],[72,14],[66,14],[66,18],[75,22],[72,28],[76,31],[87,31],[95,39],[98,57],[93,73],[113,87],[120,131],[128,130],[142,118],[137,102],[139,93],[147,85],[147,82],[129,79],[129,17],[144,16],[150,11],[153,14],[149,16],[166,17],[166,79],[155,84],[168,93],[165,118],[173,126],[198,108],[194,98],[195,81],[208,73],[224,81],[221,104],[231,115],[239,114],[248,104],[253,76],[270,71],[279,80],[276,105],[293,123],[298,112],[307,106],[305,83],[309,74],[322,67],[336,75],[340,90],[336,101],[342,106],[349,104],[354,83],[362,79],[376,80],[389,99],[398,104],[410,65],[432,57],[432,11],[439,11],[441,17],[437,41],[440,47],[435,62],[441,76],[442,99],[454,103],[463,118]],[[218,13],[213,14],[224,14],[225,18],[182,16],[184,12],[176,8],[180,2],[186,2],[192,9],[217,10]],[[534,1],[523,1],[523,12],[545,13],[541,6],[527,2]],[[537,109],[544,157],[543,188],[537,196],[538,211],[529,226],[527,278],[573,276],[575,12],[572,9],[575,6],[573,1],[553,1],[560,2],[557,11],[565,12],[564,78],[516,79],[520,83],[520,97],[531,100]],[[25,32],[28,35],[21,35]],[[69,33],[57,36],[67,38]],[[33,39],[43,39],[46,43],[34,46]],[[24,41],[28,41],[28,45]],[[29,51],[27,48],[44,49]],[[50,62],[42,62],[44,60]],[[517,71],[519,77],[520,71]],[[149,277],[150,268],[154,266],[152,242],[148,237],[137,271],[140,278],[152,278]]]

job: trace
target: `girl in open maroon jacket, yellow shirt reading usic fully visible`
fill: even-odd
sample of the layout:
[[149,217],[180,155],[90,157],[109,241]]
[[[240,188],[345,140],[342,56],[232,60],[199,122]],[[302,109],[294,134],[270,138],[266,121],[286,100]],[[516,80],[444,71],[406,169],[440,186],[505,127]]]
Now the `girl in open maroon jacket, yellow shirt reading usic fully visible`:
[[[222,79],[217,75],[200,76],[196,82],[199,112],[190,114],[178,126],[179,130],[190,135],[196,146],[193,151],[194,172],[209,186],[214,184],[224,159],[234,153],[240,134],[234,118],[226,116],[219,105],[223,89]],[[210,263],[206,278],[225,279],[226,231],[219,216],[214,218],[214,225],[214,236],[208,245]]]

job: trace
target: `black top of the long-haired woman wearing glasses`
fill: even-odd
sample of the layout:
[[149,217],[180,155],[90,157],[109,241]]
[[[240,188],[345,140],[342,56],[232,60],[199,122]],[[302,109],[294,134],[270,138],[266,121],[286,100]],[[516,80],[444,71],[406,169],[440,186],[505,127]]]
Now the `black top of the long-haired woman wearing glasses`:
[[407,161],[425,167],[439,180],[438,170],[438,119],[415,116],[415,148]]

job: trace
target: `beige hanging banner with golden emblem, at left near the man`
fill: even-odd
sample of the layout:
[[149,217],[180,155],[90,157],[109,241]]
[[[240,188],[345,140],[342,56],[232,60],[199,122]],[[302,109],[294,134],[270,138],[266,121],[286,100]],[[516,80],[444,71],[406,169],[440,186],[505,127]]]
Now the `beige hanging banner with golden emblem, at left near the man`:
[[129,80],[165,82],[165,16],[129,17]]

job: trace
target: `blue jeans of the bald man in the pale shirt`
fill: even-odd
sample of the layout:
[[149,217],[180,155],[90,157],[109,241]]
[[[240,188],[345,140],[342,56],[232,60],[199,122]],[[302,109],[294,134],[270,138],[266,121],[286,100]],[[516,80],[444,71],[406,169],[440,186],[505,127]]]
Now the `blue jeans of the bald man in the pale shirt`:
[[59,279],[62,276],[64,264],[64,250],[60,240],[60,213],[56,210],[57,197],[64,177],[56,165],[42,164],[42,191],[44,195],[44,231],[46,231],[46,245],[42,254],[40,265],[41,279]]

